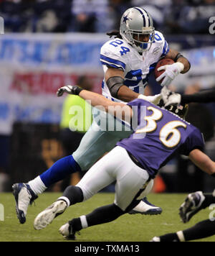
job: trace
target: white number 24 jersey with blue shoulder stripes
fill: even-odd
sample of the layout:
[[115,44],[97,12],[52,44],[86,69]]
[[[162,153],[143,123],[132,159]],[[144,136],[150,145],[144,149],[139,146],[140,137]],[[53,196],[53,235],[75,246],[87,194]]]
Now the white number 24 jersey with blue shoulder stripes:
[[[115,38],[105,42],[100,51],[100,61],[104,72],[108,67],[124,71],[124,85],[136,93],[143,94],[147,85],[148,74],[161,57],[169,51],[168,43],[161,32],[155,32],[151,49],[140,55],[131,45],[122,39]],[[111,96],[105,79],[102,82],[102,95],[113,101],[120,101]]]

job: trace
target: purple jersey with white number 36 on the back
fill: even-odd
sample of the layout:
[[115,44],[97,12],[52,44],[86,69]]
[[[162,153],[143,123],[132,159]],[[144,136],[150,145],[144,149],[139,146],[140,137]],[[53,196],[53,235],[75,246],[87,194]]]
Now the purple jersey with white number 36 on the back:
[[198,128],[176,114],[143,99],[128,103],[133,109],[133,134],[117,143],[124,147],[154,177],[178,152],[188,155],[204,147]]

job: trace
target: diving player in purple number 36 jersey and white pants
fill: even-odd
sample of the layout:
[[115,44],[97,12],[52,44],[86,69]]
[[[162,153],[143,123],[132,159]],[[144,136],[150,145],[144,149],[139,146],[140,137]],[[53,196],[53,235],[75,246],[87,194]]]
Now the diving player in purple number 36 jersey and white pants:
[[[65,91],[68,88],[60,88],[59,96]],[[156,177],[158,170],[176,152],[188,155],[201,170],[215,175],[214,161],[201,151],[204,147],[201,132],[182,118],[186,114],[187,105],[171,106],[168,111],[144,99],[135,99],[128,104],[110,101],[77,86],[70,86],[70,93],[90,100],[92,106],[107,111],[115,118],[120,116],[130,122],[133,133],[95,163],[76,186],[67,187],[62,197],[42,211],[34,220],[35,229],[44,229],[68,206],[86,201],[115,180],[113,204],[72,219],[59,232],[75,239],[75,232],[81,229],[113,221],[128,213],[147,195],[150,180]]]

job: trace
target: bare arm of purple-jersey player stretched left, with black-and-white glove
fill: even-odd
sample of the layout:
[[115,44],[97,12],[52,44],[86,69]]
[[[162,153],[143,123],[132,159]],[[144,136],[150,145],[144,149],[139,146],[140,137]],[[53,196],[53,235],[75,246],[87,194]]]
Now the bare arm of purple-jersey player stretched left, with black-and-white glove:
[[83,90],[79,86],[63,86],[57,91],[57,96],[62,96],[63,93],[80,96],[82,99],[85,99],[85,101],[89,102],[97,109],[106,111],[113,116],[122,116],[122,119],[126,121],[130,120],[133,114],[130,106],[124,103],[110,101],[98,93]]

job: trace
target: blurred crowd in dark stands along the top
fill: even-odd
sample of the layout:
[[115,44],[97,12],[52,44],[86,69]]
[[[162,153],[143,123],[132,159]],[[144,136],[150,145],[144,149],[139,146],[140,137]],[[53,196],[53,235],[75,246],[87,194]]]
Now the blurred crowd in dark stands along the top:
[[143,6],[165,33],[208,33],[215,0],[0,0],[7,32],[107,32],[130,6]]

